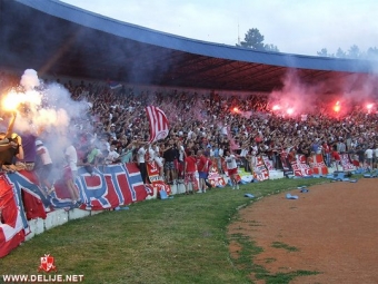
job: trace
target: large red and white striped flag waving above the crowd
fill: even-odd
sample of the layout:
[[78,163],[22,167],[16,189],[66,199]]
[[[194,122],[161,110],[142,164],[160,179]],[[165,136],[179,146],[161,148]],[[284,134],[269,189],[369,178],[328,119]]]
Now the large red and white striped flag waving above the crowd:
[[146,107],[150,121],[150,143],[165,139],[169,133],[169,124],[166,114],[158,107]]

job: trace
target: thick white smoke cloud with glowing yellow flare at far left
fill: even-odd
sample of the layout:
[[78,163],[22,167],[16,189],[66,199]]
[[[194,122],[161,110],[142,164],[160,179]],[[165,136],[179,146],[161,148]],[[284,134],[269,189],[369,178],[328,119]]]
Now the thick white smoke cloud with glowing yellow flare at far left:
[[21,137],[34,134],[49,149],[52,161],[63,163],[64,148],[78,139],[80,127],[73,125],[90,123],[86,117],[88,104],[72,100],[61,85],[43,84],[32,69],[24,71],[20,86],[2,98],[2,109],[18,112],[14,131]]

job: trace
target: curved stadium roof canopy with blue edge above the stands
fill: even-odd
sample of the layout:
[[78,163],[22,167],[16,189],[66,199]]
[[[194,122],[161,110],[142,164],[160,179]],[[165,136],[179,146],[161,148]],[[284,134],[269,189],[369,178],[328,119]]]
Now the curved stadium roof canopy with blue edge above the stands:
[[[295,45],[295,43],[294,43]],[[377,63],[377,62],[376,62]],[[0,67],[97,80],[272,91],[288,74],[325,92],[374,81],[371,61],[259,52],[173,36],[56,0],[0,0]]]

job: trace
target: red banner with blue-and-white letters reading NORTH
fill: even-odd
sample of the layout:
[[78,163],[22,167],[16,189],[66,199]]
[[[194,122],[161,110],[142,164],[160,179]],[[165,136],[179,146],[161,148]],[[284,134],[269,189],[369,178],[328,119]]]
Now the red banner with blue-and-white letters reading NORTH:
[[[33,172],[21,170],[4,176],[13,185],[16,193],[20,193],[27,219],[46,218],[46,208],[58,209],[72,206],[63,178],[54,183],[56,190],[47,196]],[[140,170],[135,163],[93,168],[92,174],[89,174],[84,167],[79,167],[74,182],[82,202],[81,209],[116,208],[145,200],[152,194],[145,187]]]

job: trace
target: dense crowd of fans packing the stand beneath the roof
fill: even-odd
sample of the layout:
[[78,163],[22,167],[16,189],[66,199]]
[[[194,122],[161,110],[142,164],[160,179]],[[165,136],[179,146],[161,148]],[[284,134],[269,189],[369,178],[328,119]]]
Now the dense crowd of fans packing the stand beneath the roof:
[[[325,100],[318,100],[318,106],[311,108],[314,111],[291,115],[277,111],[266,95],[151,91],[126,86],[112,89],[108,84],[61,82],[59,79],[56,82],[69,90],[73,101],[88,102],[87,111],[71,119],[76,129],[71,133],[72,144],[62,149],[69,158],[67,168],[71,172],[67,170],[66,175],[71,182],[77,166],[86,167],[91,174],[93,167],[100,169],[107,164],[137,163],[143,182],[148,183],[146,160],[150,159],[157,161],[167,183],[189,183],[192,170],[206,173],[210,164],[222,173],[221,160],[227,153],[233,154],[247,172],[251,172],[257,155],[267,156],[273,168],[281,169],[282,153],[289,161],[296,154],[306,157],[322,154],[328,167],[337,167],[339,154],[345,153],[357,167],[372,169],[378,165],[376,101],[371,101],[372,108],[368,111],[354,105],[347,112],[338,114],[327,109]],[[17,79],[1,75],[2,91],[17,84]],[[148,143],[150,128],[145,110],[148,105],[161,108],[170,124],[168,137],[152,144]],[[3,136],[11,138],[9,135],[4,129]],[[12,165],[22,167],[23,163],[24,167],[36,168],[39,176],[46,177],[52,165],[60,165],[49,157],[42,135],[19,133],[19,137],[22,143],[16,144],[23,147],[23,157],[17,157],[19,149],[12,151],[11,163],[1,155],[3,170],[17,170]],[[193,157],[198,163],[190,161]],[[43,183],[48,189],[52,188],[52,180],[43,178]],[[73,190],[72,199],[77,199]]]

